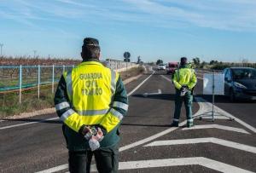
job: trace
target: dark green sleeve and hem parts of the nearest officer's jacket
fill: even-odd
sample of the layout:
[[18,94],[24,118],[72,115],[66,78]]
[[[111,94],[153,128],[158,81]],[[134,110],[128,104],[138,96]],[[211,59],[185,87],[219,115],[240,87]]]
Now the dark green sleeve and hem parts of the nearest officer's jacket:
[[[96,60],[92,60],[96,61]],[[58,87],[55,92],[55,105],[67,101],[70,102],[67,96],[67,85],[66,81],[61,76],[61,79],[59,81]],[[125,85],[123,84],[121,78],[118,78],[118,81],[116,83],[116,90],[112,98],[113,101],[119,101],[123,102],[125,104],[128,104],[128,97],[125,90]],[[70,104],[72,105],[72,104]],[[123,116],[126,115],[126,111],[119,107],[113,107],[110,105],[110,108],[115,109],[116,111],[120,112]],[[69,109],[69,107],[65,109],[61,109],[60,111],[57,111],[57,114],[59,117],[66,112]],[[104,130],[102,127],[103,132],[105,133],[105,136],[103,140],[100,142],[101,148],[107,148],[107,147],[113,147],[119,142],[119,125],[121,122],[109,133],[107,133],[106,130]],[[85,124],[86,125],[86,124]],[[81,133],[77,133],[76,131],[70,129],[67,127],[67,125],[63,124],[62,126],[63,134],[65,136],[65,139],[67,141],[67,148],[69,151],[84,151],[84,150],[90,150],[89,143],[87,140],[85,140],[84,136]]]

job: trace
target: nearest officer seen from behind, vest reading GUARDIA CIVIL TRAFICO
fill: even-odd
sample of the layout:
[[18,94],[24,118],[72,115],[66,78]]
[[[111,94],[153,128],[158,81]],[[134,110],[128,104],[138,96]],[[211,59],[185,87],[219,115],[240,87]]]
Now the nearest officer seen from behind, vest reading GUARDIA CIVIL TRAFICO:
[[119,125],[128,110],[125,86],[119,73],[99,61],[95,38],[84,38],[83,62],[61,76],[55,109],[63,122],[71,173],[90,172],[92,155],[97,170],[117,172]]

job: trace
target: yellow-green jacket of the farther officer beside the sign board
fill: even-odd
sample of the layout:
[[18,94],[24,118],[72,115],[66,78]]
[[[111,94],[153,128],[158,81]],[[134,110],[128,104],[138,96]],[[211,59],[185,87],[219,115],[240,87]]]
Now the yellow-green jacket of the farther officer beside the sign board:
[[183,85],[187,85],[189,89],[193,89],[197,82],[195,70],[188,66],[182,66],[173,74],[172,82],[176,89],[181,89]]

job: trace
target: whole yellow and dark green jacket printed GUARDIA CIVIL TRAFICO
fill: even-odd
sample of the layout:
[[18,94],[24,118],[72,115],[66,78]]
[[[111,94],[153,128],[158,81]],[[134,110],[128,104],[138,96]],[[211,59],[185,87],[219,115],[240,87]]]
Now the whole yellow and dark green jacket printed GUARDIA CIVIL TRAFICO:
[[119,141],[118,128],[128,110],[128,99],[117,72],[98,61],[84,61],[63,73],[55,92],[55,109],[65,124],[70,150],[88,146],[79,134],[84,125],[99,125],[106,130],[101,146],[108,147]]

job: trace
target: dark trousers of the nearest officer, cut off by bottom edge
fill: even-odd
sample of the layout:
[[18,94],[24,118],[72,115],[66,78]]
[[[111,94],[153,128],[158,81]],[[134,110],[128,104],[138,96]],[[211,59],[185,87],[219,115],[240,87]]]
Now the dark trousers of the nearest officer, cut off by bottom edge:
[[69,151],[70,173],[89,173],[90,162],[94,155],[99,173],[116,173],[119,168],[119,144],[113,147],[91,151]]

